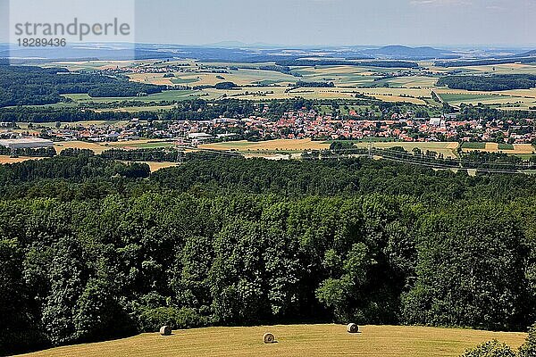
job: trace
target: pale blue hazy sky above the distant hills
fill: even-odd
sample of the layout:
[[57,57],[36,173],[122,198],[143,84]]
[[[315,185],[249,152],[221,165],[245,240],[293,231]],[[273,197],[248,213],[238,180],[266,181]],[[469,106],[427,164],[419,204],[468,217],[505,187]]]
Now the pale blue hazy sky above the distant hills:
[[[8,1],[0,0],[0,22]],[[536,0],[113,0],[113,4],[124,2],[126,8],[132,1],[139,43],[536,47]],[[84,12],[104,16],[105,8],[93,3],[81,2],[87,7]],[[51,14],[60,12],[50,9]]]

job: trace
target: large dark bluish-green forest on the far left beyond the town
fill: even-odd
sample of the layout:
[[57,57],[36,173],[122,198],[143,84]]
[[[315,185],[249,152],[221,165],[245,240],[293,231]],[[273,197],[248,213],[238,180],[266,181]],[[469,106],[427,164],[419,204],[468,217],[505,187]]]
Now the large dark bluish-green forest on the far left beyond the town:
[[60,103],[65,101],[64,94],[136,96],[159,93],[163,88],[62,68],[0,65],[0,107]]

